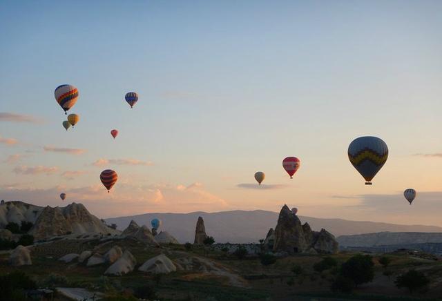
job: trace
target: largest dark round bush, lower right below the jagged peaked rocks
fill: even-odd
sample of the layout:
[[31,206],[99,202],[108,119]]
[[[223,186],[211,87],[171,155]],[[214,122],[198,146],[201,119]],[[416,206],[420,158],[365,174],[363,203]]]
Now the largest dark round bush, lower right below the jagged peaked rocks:
[[354,255],[343,263],[340,274],[353,280],[355,287],[371,282],[374,278],[374,263],[370,255]]

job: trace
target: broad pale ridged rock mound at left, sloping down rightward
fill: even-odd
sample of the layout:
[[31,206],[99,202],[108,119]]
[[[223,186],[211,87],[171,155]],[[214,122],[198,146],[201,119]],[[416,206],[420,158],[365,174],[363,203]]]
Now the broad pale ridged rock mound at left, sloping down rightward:
[[66,207],[46,206],[32,226],[30,233],[36,240],[44,240],[68,233],[112,234],[118,232],[91,215],[84,205],[73,203]]

